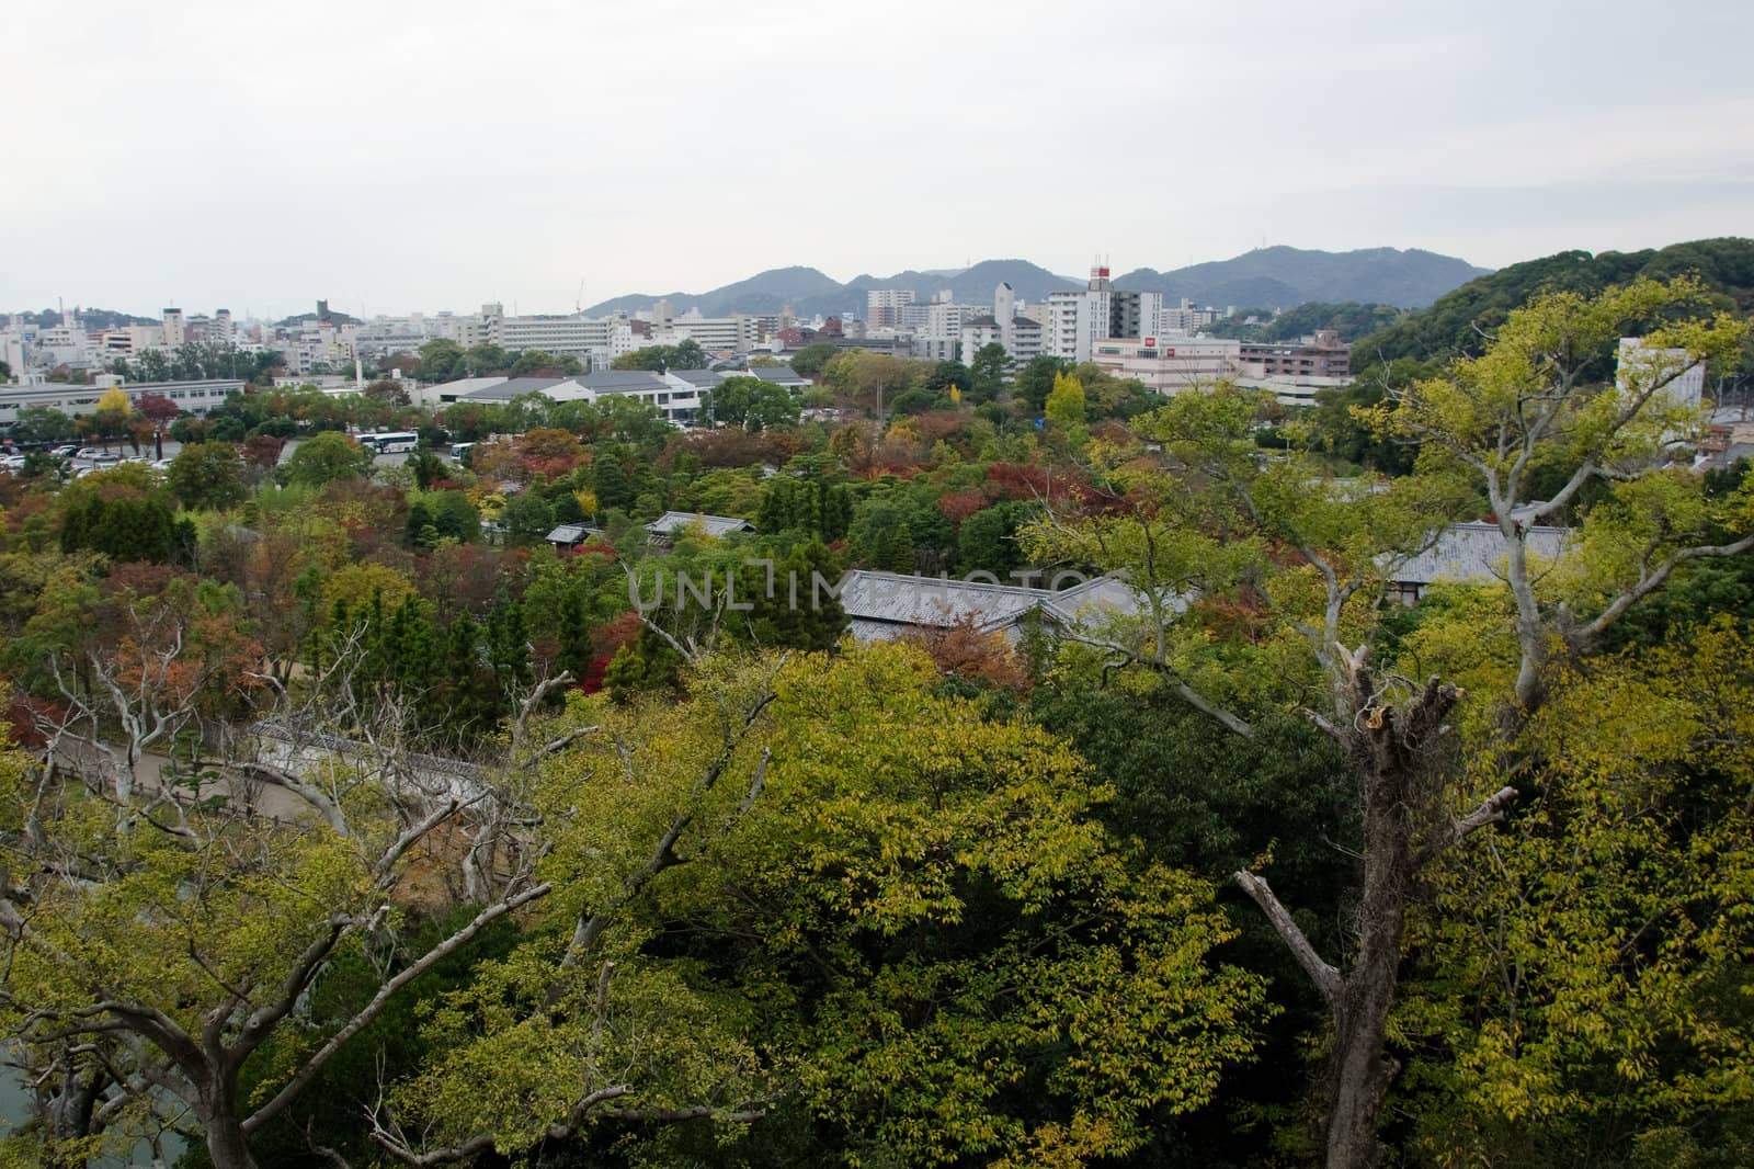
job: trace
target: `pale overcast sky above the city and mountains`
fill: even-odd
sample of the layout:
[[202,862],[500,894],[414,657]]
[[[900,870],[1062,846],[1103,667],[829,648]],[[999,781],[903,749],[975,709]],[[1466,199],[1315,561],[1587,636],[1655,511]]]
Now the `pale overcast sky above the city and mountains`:
[[1754,233],[1747,0],[14,4],[0,309]]

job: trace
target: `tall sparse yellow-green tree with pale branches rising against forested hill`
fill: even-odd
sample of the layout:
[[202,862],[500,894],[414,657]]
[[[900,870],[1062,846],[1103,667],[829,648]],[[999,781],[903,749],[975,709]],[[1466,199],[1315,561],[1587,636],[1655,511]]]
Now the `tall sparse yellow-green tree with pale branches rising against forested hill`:
[[[1582,651],[1677,567],[1754,548],[1754,486],[1710,500],[1696,477],[1647,474],[1698,421],[1670,386],[1700,365],[1733,360],[1749,333],[1747,321],[1707,309],[1703,288],[1687,277],[1591,298],[1551,293],[1512,312],[1484,355],[1393,393],[1393,409],[1373,414],[1382,432],[1421,444],[1421,469],[1468,474],[1486,495],[1517,609],[1515,697],[1524,707],[1538,704],[1556,644]],[[1591,363],[1642,321],[1666,321],[1643,335],[1649,358],[1622,356],[1617,384],[1591,384]],[[1615,484],[1617,506],[1591,509],[1591,584],[1582,595],[1540,597],[1529,528],[1601,483]]]

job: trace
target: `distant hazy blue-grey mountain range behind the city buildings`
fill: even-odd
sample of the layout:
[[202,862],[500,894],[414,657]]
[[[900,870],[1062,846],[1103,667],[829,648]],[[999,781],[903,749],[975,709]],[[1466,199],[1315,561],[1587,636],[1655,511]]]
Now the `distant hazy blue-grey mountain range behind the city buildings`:
[[[1231,260],[1194,263],[1159,272],[1135,269],[1117,276],[1116,288],[1161,291],[1172,300],[1187,297],[1201,305],[1289,309],[1307,300],[1361,300],[1417,309],[1466,281],[1487,274],[1454,256],[1431,251],[1370,247],[1361,251],[1308,251],[1301,247],[1258,247]],[[958,304],[988,304],[1000,283],[1009,283],[1021,300],[1045,300],[1049,293],[1082,288],[1084,281],[1056,276],[1028,260],[982,260],[966,269],[907,270],[895,276],[854,276],[840,283],[817,269],[770,269],[749,279],[703,293],[633,293],[586,309],[591,316],[637,312],[665,298],[675,312],[700,309],[705,316],[728,312],[779,312],[791,305],[798,316],[865,316],[865,293],[872,288],[907,288],[930,300],[949,290]]]

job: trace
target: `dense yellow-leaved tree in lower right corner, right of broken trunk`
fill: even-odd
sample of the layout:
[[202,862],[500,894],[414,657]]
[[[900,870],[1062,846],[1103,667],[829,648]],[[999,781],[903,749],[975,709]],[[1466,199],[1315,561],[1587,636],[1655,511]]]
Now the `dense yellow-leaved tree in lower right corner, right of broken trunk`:
[[[1754,951],[1747,628],[1561,669],[1519,742],[1533,799],[1438,874],[1398,1027],[1433,1158],[1747,1164]],[[1498,767],[1493,728],[1475,767]]]

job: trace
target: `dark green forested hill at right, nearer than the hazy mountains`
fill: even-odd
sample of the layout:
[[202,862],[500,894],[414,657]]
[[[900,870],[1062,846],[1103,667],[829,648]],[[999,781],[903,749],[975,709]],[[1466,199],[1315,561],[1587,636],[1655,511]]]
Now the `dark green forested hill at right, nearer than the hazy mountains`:
[[1701,239],[1645,251],[1561,251],[1556,256],[1514,263],[1468,281],[1387,328],[1354,344],[1365,362],[1449,360],[1479,351],[1482,330],[1491,332],[1510,311],[1542,291],[1600,293],[1640,276],[1668,279],[1698,276],[1747,312],[1754,309],[1754,239]]

